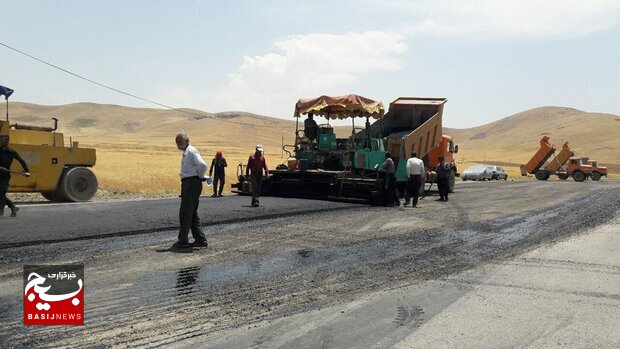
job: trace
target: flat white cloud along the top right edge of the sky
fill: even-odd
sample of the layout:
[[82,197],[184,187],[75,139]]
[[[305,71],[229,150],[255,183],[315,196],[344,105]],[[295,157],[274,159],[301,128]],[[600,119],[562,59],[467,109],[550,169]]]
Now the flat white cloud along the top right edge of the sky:
[[475,40],[581,37],[620,23],[616,0],[371,1],[407,11],[403,34]]

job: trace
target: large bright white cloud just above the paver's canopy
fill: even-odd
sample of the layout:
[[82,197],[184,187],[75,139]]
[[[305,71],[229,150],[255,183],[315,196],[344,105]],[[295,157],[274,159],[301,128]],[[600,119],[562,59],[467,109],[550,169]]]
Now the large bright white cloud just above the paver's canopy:
[[244,57],[210,104],[218,110],[288,116],[298,98],[348,93],[340,88],[362,74],[401,69],[398,56],[407,49],[403,40],[378,31],[291,36],[273,43],[277,52]]

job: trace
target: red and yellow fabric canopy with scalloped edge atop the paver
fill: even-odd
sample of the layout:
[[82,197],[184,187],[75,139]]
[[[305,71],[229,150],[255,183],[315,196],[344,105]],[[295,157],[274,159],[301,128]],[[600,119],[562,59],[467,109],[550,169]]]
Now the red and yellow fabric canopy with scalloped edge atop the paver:
[[371,117],[380,119],[384,109],[381,101],[350,94],[344,96],[320,96],[300,99],[295,104],[295,117],[313,113],[328,119],[346,119],[354,117]]

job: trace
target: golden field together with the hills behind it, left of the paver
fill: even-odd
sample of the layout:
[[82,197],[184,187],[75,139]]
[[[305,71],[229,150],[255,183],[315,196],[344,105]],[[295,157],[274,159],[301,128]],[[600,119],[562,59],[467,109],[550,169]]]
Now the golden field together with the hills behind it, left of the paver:
[[[256,144],[265,148],[271,167],[284,161],[281,144],[293,142],[295,122],[245,112],[189,113],[117,105],[76,103],[41,106],[12,102],[11,123],[51,126],[97,149],[94,170],[100,187],[110,192],[174,194],[179,190],[180,152],[174,137],[185,130],[210,164],[217,150],[228,162],[227,185],[236,182],[237,165],[247,161]],[[210,189],[209,189],[210,191]]]

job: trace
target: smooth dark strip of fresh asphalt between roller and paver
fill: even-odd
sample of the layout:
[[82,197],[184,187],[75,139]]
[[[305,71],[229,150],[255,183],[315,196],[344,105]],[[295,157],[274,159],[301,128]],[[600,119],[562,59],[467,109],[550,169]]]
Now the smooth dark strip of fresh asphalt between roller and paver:
[[[17,218],[0,218],[0,249],[174,230],[180,202],[179,198],[24,205]],[[263,197],[256,208],[249,197],[232,195],[202,197],[198,212],[203,224],[213,225],[355,207],[359,205]]]

